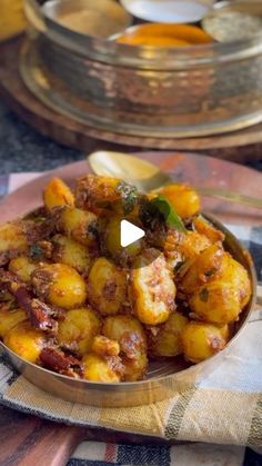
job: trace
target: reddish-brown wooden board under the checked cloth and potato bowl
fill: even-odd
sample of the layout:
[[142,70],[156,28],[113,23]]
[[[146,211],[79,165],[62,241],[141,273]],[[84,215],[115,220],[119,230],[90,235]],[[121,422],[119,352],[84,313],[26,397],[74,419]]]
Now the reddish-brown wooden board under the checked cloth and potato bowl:
[[[242,166],[236,166],[214,158],[198,157],[170,152],[147,152],[140,157],[159,163],[172,172],[179,181],[188,180],[202,186],[221,186],[239,190],[246,195],[262,197],[262,175]],[[72,163],[56,170],[56,176],[68,182],[89,170],[85,161]],[[40,190],[48,178],[32,181],[10,195],[0,205],[1,220],[23,214],[41,202]],[[202,199],[205,209],[212,210],[220,218],[231,222],[262,224],[262,211],[242,206],[233,206],[214,199]],[[163,443],[161,439],[127,435],[98,428],[78,428],[54,424],[0,407],[0,465],[63,466],[83,439],[119,443]]]

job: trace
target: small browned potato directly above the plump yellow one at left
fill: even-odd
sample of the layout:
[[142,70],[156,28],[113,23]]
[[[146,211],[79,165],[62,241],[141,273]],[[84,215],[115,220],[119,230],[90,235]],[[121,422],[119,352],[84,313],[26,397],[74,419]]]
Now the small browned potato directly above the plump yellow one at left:
[[75,268],[80,274],[87,275],[91,257],[88,248],[72,238],[63,235],[56,235],[52,238],[54,262],[66,264]]

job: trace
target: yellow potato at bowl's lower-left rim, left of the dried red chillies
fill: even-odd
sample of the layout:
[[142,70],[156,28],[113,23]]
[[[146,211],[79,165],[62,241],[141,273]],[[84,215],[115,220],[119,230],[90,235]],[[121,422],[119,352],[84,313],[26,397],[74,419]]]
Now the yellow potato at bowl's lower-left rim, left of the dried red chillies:
[[37,363],[47,338],[43,331],[36,330],[28,321],[22,321],[6,334],[3,343],[21,358]]

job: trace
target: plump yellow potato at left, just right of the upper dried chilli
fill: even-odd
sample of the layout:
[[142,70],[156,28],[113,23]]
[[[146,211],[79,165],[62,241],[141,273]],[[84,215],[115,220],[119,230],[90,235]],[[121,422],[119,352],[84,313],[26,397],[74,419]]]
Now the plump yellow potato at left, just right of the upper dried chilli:
[[72,309],[80,307],[87,299],[83,278],[66,264],[48,264],[32,272],[32,286],[44,301]]

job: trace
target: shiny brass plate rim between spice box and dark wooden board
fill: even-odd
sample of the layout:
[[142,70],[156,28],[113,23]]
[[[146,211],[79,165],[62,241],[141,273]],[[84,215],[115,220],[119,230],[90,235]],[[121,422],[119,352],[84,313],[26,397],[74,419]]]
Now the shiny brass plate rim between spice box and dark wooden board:
[[[225,120],[223,122],[213,123],[210,125],[209,128],[206,125],[199,125],[195,126],[195,128],[183,127],[181,129],[175,126],[160,128],[157,125],[142,126],[129,123],[122,121],[121,118],[113,118],[115,113],[112,109],[108,111],[108,116],[104,116],[104,108],[94,106],[93,103],[87,102],[85,110],[83,110],[83,101],[66,89],[63,83],[60,82],[57,77],[53,77],[50,72],[47,73],[47,71],[43,70],[41,60],[33,47],[33,42],[30,40],[26,40],[23,47],[21,48],[19,68],[27,88],[47,107],[61,115],[66,115],[71,119],[85,125],[87,127],[98,130],[161,140],[164,138],[180,139],[226,133],[258,125],[262,121],[261,108],[261,110],[250,116],[238,117],[234,120]],[[77,102],[80,101],[81,106],[78,106]],[[99,112],[101,115],[99,115]]]

